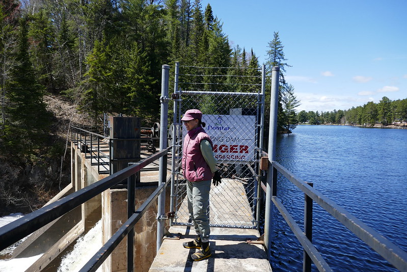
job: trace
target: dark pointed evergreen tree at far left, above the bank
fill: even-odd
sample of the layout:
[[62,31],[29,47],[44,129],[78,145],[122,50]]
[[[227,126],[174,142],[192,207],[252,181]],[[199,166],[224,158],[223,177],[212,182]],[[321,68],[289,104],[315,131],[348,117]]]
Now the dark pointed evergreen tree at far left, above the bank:
[[28,53],[28,24],[21,19],[16,63],[7,84],[4,145],[6,152],[27,156],[37,151],[46,140],[50,114],[43,102],[44,87],[37,83]]

